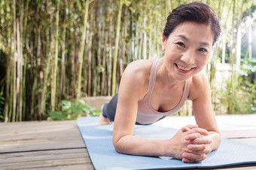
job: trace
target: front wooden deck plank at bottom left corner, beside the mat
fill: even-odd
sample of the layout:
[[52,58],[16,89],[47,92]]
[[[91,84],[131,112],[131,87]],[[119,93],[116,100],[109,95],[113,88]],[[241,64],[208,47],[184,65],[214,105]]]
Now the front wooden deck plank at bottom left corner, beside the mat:
[[93,169],[87,149],[0,155],[0,169]]

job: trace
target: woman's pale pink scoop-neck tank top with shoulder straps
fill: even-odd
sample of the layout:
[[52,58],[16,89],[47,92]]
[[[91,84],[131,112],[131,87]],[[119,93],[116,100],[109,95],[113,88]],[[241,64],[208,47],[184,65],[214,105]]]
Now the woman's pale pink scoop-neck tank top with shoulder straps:
[[145,97],[143,97],[142,100],[139,100],[136,119],[136,122],[138,122],[139,124],[152,124],[158,121],[163,116],[175,114],[181,109],[182,106],[184,106],[184,103],[189,95],[190,79],[187,79],[184,83],[181,100],[179,101],[178,105],[175,106],[175,108],[169,110],[168,112],[157,112],[151,107],[151,95],[154,90],[154,84],[156,82],[157,67],[161,59],[163,58],[157,58],[156,60],[154,60],[151,67],[151,74],[149,76],[148,90],[145,94]]

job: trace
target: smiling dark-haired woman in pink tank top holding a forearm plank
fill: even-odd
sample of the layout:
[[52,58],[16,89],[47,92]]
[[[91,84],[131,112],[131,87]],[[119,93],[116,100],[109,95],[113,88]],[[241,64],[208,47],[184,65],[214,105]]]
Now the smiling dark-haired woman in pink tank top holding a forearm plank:
[[[218,148],[221,136],[209,82],[202,70],[220,32],[217,16],[201,2],[183,4],[169,13],[163,31],[164,57],[129,64],[118,97],[102,108],[99,124],[114,121],[113,144],[117,152],[197,163]],[[133,136],[134,124],[152,124],[172,115],[187,99],[193,102],[197,125],[182,127],[171,139]]]

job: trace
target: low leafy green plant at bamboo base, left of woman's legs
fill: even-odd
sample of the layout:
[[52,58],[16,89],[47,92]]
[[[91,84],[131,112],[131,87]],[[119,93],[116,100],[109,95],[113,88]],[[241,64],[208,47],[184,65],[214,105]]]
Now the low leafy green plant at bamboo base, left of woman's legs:
[[50,112],[48,121],[76,120],[81,116],[99,116],[101,113],[101,110],[84,103],[84,100],[79,100],[78,105],[68,100],[62,100],[60,107],[60,111]]

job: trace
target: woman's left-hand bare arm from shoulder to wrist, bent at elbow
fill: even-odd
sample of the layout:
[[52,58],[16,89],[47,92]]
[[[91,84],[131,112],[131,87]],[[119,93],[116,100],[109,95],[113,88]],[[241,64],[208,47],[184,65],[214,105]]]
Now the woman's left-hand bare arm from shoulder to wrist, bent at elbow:
[[[136,66],[135,66],[136,67]],[[120,81],[118,93],[117,112],[114,118],[113,144],[117,152],[123,154],[161,156],[164,149],[164,140],[143,139],[133,136],[136,123],[138,101],[145,95],[147,79],[143,80],[143,73],[127,67]],[[136,74],[134,72],[137,72]],[[162,147],[164,148],[164,147]]]

